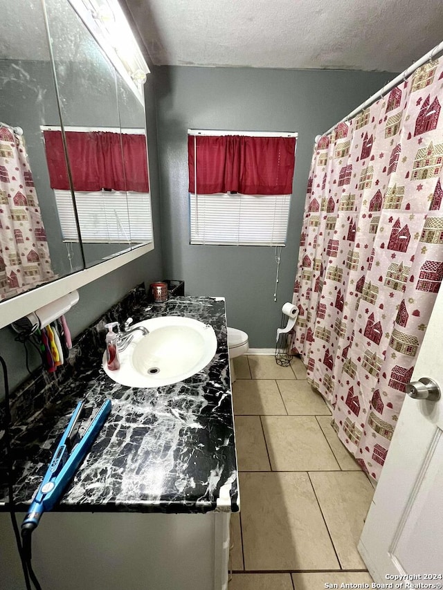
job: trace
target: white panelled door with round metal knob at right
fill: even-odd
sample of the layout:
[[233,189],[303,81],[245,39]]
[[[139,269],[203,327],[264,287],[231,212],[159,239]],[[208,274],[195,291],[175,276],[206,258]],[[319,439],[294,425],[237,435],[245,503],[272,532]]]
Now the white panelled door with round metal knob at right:
[[[443,391],[443,288],[411,382],[424,377]],[[397,584],[403,581],[397,588],[442,588],[442,430],[442,398],[429,401],[406,396],[359,542],[374,582],[393,582],[395,588],[392,576],[405,576],[397,578]]]

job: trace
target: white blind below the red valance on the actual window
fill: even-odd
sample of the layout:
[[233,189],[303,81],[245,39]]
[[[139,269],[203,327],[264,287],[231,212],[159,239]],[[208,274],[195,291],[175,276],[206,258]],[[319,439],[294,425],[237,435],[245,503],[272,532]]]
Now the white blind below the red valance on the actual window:
[[190,243],[284,246],[290,194],[190,194]]

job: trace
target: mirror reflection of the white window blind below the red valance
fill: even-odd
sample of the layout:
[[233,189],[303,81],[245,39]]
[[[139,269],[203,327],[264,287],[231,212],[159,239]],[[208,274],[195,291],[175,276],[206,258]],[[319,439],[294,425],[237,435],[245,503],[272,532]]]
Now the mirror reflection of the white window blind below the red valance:
[[[64,241],[78,241],[71,192],[54,190]],[[76,192],[82,241],[152,241],[151,197],[141,192]]]

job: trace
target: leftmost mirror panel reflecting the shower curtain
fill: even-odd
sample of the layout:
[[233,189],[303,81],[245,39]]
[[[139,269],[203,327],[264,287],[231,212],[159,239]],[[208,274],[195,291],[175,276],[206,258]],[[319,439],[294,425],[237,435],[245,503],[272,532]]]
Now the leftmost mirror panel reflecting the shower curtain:
[[[16,0],[2,21],[0,299],[8,299],[83,265],[73,260],[78,243],[69,249],[62,239],[40,131],[60,125],[42,5]],[[63,157],[61,165],[66,172]]]

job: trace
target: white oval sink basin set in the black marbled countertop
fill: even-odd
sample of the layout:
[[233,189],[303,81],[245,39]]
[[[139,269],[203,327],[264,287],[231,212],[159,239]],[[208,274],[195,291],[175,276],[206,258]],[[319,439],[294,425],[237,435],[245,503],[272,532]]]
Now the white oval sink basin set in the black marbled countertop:
[[201,371],[217,351],[212,326],[190,317],[153,317],[131,328],[137,326],[144,326],[150,333],[134,331],[132,342],[120,352],[120,369],[109,371],[106,353],[103,356],[105,373],[121,385],[172,385]]

